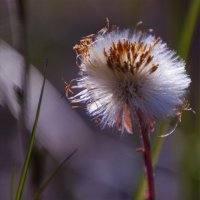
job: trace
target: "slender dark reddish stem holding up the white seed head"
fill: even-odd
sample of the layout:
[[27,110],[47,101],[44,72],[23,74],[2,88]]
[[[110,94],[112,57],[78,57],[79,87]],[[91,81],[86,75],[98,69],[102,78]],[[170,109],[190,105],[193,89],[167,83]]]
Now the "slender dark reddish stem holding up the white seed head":
[[149,141],[149,132],[147,125],[144,124],[142,115],[140,112],[137,113],[138,120],[141,128],[141,139],[143,143],[143,153],[144,153],[144,164],[145,172],[147,177],[148,185],[148,200],[155,200],[155,188],[154,188],[154,176],[153,176],[153,166],[151,160],[151,145]]

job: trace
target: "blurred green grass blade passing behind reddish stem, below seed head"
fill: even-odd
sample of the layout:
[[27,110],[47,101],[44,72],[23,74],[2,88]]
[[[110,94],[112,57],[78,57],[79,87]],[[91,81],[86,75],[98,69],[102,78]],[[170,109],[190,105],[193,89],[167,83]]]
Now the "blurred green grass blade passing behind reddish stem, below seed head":
[[[159,154],[160,154],[160,149],[163,144],[164,138],[158,137],[159,135],[162,135],[167,131],[168,128],[168,123],[162,124],[157,131],[155,138],[153,140],[153,145],[152,145],[152,162],[153,162],[153,167],[156,165]],[[144,200],[144,194],[146,191],[146,178],[144,175],[142,175],[140,182],[138,184],[138,187],[136,189],[136,193],[133,197],[133,200]]]

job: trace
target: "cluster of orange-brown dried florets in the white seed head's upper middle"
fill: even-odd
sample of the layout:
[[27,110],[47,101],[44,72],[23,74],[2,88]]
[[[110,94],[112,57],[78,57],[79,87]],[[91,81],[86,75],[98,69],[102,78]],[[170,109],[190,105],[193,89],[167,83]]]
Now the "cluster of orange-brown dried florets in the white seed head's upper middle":
[[[108,51],[104,49],[107,65],[116,72],[135,74],[148,66],[153,60],[151,53],[159,41],[159,38],[155,39],[148,48],[147,44],[140,40],[134,43],[126,39],[113,42]],[[149,74],[155,72],[157,68],[157,63],[152,64]]]

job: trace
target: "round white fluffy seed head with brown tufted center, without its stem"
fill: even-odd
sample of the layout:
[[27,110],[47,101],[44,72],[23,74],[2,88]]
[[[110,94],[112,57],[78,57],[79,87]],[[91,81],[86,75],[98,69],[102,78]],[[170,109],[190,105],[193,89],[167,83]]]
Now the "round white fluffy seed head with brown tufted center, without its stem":
[[74,50],[80,77],[73,88],[81,91],[70,100],[86,103],[103,126],[132,133],[138,111],[148,126],[180,113],[191,80],[184,61],[160,38],[107,26]]

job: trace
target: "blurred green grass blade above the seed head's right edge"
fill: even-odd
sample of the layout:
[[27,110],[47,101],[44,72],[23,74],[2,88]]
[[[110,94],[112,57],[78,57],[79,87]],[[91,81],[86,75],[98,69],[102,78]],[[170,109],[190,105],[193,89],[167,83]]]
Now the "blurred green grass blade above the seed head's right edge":
[[185,24],[182,30],[178,46],[178,53],[182,56],[183,59],[187,59],[188,57],[195,25],[199,17],[199,11],[200,11],[200,0],[193,0],[185,20]]

